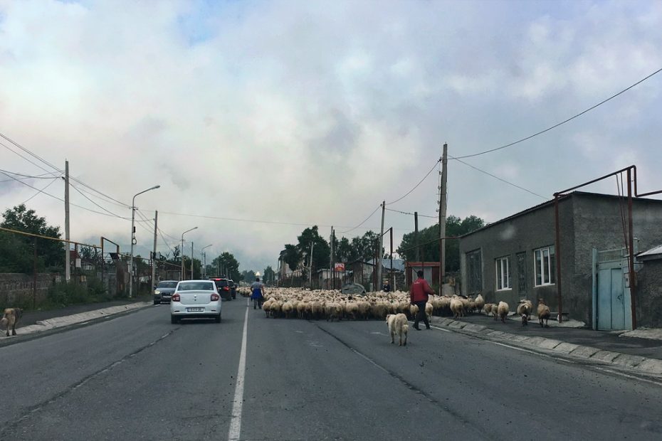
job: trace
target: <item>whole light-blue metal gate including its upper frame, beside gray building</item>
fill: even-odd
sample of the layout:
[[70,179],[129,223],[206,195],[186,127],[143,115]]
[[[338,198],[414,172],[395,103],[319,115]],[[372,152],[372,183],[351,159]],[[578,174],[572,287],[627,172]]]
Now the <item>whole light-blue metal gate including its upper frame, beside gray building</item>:
[[593,249],[593,329],[632,329],[627,276],[625,248],[605,251]]

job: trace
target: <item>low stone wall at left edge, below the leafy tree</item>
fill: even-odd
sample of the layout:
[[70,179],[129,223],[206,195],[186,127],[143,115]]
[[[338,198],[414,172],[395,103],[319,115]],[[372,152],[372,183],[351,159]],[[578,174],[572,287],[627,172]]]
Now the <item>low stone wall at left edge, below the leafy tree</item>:
[[[46,299],[48,289],[60,276],[57,274],[38,274],[36,301]],[[19,273],[0,274],[0,307],[31,307],[33,302],[33,275]]]

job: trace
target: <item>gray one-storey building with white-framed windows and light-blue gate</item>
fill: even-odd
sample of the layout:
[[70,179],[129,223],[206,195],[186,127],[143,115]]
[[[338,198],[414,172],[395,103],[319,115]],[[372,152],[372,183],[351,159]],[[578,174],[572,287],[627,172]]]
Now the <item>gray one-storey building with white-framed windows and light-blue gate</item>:
[[[662,201],[633,198],[633,223],[635,253],[662,243]],[[559,225],[564,314],[595,329],[629,329],[627,199],[574,191],[559,198]],[[460,257],[463,294],[503,300],[511,311],[520,299],[544,299],[558,311],[554,201],[463,235]]]

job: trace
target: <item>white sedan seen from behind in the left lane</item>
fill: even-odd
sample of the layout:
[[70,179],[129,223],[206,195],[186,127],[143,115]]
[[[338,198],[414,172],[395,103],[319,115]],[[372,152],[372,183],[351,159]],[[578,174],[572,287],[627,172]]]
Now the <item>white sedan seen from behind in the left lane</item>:
[[221,323],[221,296],[212,280],[182,280],[170,297],[170,322],[209,318]]

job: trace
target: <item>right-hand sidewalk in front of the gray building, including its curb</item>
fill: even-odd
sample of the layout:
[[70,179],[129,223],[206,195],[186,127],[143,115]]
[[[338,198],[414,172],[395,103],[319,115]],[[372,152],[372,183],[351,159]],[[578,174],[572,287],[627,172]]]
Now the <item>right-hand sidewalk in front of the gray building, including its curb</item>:
[[552,320],[549,328],[542,328],[535,316],[527,326],[522,326],[518,316],[509,316],[502,323],[484,314],[472,314],[458,320],[432,317],[432,324],[552,356],[608,363],[662,378],[662,332],[659,329],[593,331],[580,327],[584,326],[582,322],[559,324]]

